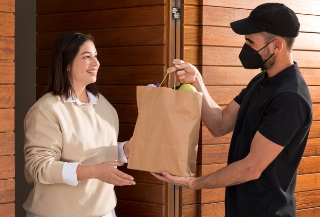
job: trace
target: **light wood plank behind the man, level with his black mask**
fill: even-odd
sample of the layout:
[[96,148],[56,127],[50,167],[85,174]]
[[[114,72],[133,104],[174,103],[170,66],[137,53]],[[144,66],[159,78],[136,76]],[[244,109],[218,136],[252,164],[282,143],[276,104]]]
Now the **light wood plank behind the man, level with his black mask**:
[[[189,47],[190,53],[197,52],[196,47]],[[202,47],[203,65],[241,66],[239,60],[241,48],[237,47]],[[306,58],[308,57],[308,58]],[[293,51],[293,60],[298,62],[299,67],[320,68],[320,52]],[[191,62],[192,63],[192,62]]]

